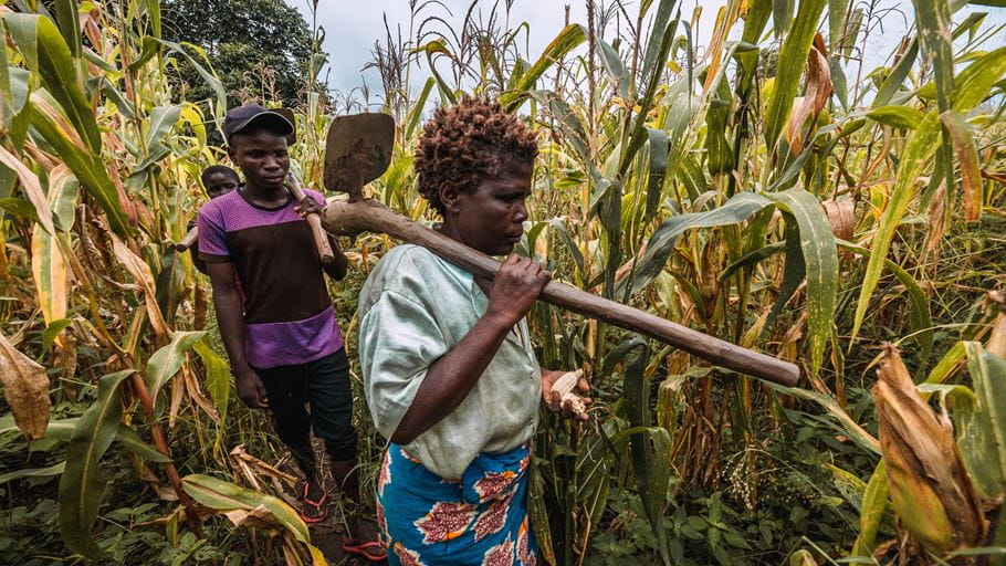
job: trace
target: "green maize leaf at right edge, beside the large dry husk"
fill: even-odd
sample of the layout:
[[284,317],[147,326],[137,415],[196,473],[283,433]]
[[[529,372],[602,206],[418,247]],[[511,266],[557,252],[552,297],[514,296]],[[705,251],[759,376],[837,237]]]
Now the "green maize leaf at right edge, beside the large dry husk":
[[1006,495],[1006,359],[965,342],[977,403],[954,403],[957,446],[964,467],[988,501]]

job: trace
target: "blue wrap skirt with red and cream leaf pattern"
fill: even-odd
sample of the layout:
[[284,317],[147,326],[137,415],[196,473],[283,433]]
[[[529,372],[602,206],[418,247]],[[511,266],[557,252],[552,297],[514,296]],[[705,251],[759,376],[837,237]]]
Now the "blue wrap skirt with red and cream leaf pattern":
[[444,480],[397,444],[385,453],[377,521],[391,566],[531,566],[530,443],[480,454]]

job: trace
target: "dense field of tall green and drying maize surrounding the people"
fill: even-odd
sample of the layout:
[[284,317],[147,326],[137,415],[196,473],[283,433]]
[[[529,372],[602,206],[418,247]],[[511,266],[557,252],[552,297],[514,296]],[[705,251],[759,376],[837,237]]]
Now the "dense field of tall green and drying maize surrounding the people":
[[[423,118],[499,98],[539,134],[520,253],[806,376],[768,386],[538,304],[538,358],[596,399],[536,438],[539,559],[1006,564],[1000,2],[584,0],[554,30],[514,4],[409,2],[373,30],[368,109],[397,129],[368,196],[434,220]],[[0,6],[4,564],[342,559],[291,507],[297,471],[237,402],[209,283],[171,245],[234,96],[207,46],[163,39],[181,23],[158,0]],[[364,103],[318,90],[313,32],[291,155],[322,189],[327,125]],[[208,99],[186,99],[181,65]],[[356,292],[395,244],[343,242],[350,359]],[[385,439],[354,387],[373,486]]]

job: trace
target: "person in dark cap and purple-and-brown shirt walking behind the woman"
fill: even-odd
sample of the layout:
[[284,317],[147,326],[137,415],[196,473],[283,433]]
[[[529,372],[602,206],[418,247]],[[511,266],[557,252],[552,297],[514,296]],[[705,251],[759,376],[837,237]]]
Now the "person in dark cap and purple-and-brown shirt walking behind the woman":
[[306,190],[296,202],[284,185],[285,136],[292,132],[283,115],[256,104],[227,113],[227,150],[244,185],[200,209],[199,256],[207,263],[238,395],[249,407],[270,411],[280,440],[306,475],[302,518],[318,523],[328,511],[310,441],[313,429],[347,509],[345,547],[381,560],[376,534],[368,535],[360,522],[349,365],[324,279],[345,277],[348,261],[331,239],[335,260],[323,265],[304,221],[324,212],[324,197]]

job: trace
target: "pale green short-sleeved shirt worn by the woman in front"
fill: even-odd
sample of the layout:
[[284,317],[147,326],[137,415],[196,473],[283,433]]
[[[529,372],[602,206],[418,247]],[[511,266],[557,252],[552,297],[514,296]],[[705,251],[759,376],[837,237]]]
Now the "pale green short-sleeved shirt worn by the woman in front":
[[[425,248],[399,245],[377,263],[359,295],[359,357],[367,406],[381,434],[391,438],[427,369],[488,305],[471,274]],[[528,440],[541,398],[541,368],[521,321],[461,405],[404,448],[441,478],[459,479],[480,452],[504,452]]]

